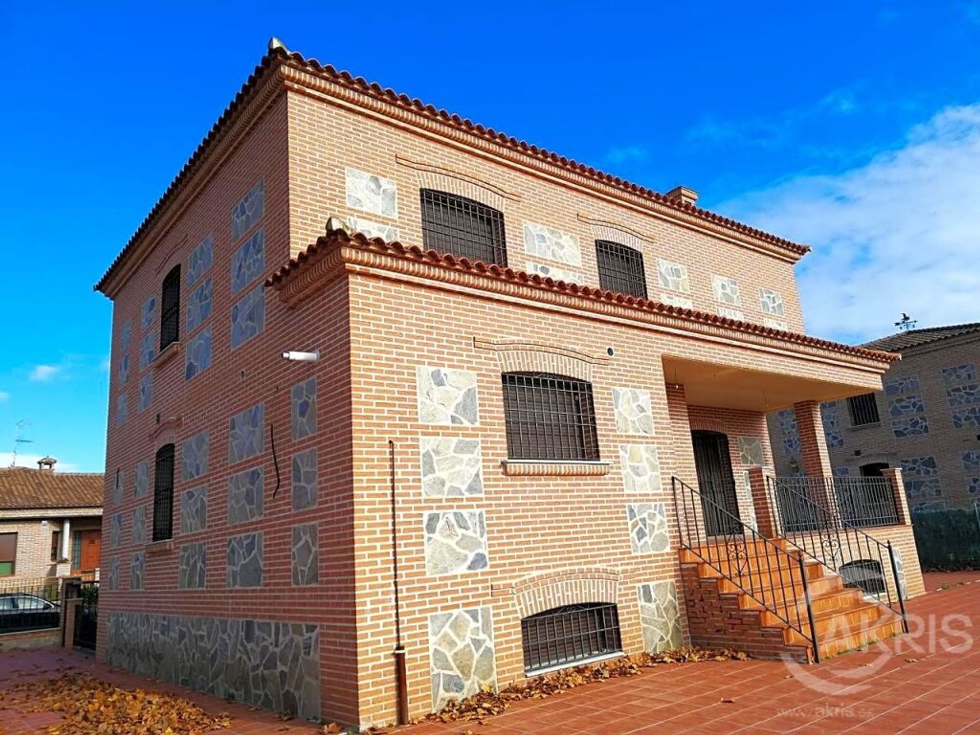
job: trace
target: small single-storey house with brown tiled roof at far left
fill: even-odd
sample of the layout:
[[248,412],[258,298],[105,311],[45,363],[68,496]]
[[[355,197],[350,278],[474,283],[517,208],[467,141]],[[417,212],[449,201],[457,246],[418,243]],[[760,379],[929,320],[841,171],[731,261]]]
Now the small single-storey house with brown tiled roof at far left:
[[98,569],[102,474],[55,464],[0,469],[0,585]]

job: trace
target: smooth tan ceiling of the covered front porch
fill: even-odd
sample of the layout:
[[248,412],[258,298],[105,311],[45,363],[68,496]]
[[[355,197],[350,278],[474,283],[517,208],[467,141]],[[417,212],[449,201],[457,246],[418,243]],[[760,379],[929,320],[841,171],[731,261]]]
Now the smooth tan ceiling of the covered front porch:
[[[663,356],[663,379],[684,386],[691,406],[771,412],[789,408],[800,401],[835,401],[881,390],[872,387],[868,376],[854,382],[817,380],[785,372],[765,372],[713,363],[701,363]],[[861,382],[863,381],[863,384]]]

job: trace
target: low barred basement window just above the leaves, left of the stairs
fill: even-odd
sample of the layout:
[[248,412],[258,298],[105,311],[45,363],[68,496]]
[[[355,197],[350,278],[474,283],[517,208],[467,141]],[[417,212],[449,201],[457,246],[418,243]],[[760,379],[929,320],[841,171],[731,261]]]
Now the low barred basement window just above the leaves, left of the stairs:
[[524,670],[595,659],[622,649],[619,613],[609,603],[565,605],[520,621]]

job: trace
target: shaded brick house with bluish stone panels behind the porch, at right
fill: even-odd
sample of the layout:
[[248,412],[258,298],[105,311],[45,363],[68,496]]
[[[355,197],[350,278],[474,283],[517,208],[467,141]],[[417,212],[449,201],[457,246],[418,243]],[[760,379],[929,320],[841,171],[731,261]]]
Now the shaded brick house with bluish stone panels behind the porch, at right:
[[[901,467],[913,511],[980,500],[980,322],[910,329],[861,347],[901,353],[884,390],[821,409],[834,473]],[[792,410],[769,417],[776,468],[802,471]]]

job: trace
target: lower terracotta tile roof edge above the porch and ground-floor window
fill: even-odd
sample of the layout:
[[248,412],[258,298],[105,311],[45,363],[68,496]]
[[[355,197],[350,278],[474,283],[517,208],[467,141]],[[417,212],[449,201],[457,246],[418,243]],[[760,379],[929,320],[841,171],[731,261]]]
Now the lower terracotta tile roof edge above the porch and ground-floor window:
[[566,283],[564,280],[556,280],[551,277],[531,274],[524,270],[514,270],[497,265],[490,265],[481,261],[469,261],[466,258],[456,257],[450,254],[440,254],[435,250],[422,250],[417,245],[403,245],[400,242],[385,242],[380,237],[368,238],[361,232],[348,234],[343,229],[327,229],[325,235],[321,235],[317,242],[311,244],[294,258],[290,258],[286,265],[275,270],[266,279],[268,287],[281,288],[285,283],[294,277],[298,277],[302,271],[317,265],[324,253],[332,245],[346,245],[349,247],[361,248],[373,252],[381,252],[386,255],[405,258],[414,261],[424,262],[426,265],[437,266],[450,270],[464,270],[479,275],[484,275],[499,280],[506,280],[525,285],[534,286],[541,289],[564,293],[569,296],[578,296],[593,301],[604,301],[617,306],[629,307],[646,312],[657,312],[669,315],[678,319],[686,319],[702,324],[716,324],[740,332],[759,334],[772,337],[785,342],[807,345],[818,349],[836,352],[843,355],[852,355],[868,360],[876,360],[884,363],[892,363],[899,359],[898,355],[892,355],[881,350],[871,350],[863,347],[853,347],[851,345],[831,342],[830,340],[811,337],[807,334],[774,329],[772,327],[755,324],[749,321],[739,321],[718,317],[709,312],[701,312],[695,309],[684,309],[682,307],[669,306],[659,301],[641,299],[637,296],[607,291],[602,288],[592,286],[580,286],[576,283]]

